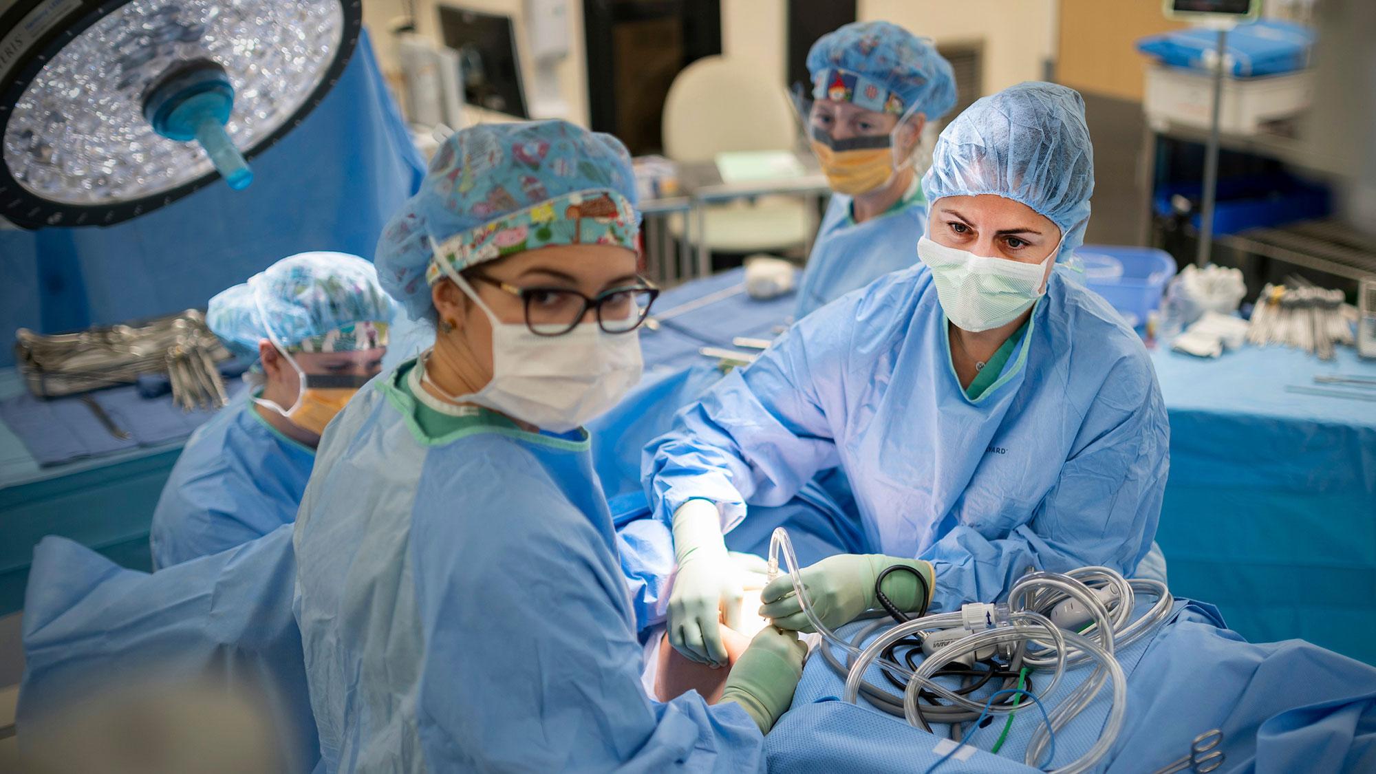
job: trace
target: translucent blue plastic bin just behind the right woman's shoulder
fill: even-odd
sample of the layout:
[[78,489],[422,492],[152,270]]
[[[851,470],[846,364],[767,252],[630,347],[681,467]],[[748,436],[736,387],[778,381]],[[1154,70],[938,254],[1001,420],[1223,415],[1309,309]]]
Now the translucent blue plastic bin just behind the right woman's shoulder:
[[1161,306],[1165,284],[1175,277],[1171,253],[1153,248],[1082,245],[1075,255],[1084,263],[1084,285],[1134,328]]

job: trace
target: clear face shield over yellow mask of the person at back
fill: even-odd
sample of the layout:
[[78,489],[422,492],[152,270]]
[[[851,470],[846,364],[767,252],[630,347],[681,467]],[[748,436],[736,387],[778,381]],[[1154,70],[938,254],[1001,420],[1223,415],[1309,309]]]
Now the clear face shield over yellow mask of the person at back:
[[926,123],[916,106],[901,114],[868,110],[845,99],[841,85],[831,91],[842,99],[813,99],[805,84],[795,84],[788,103],[832,190],[864,194],[914,164]]

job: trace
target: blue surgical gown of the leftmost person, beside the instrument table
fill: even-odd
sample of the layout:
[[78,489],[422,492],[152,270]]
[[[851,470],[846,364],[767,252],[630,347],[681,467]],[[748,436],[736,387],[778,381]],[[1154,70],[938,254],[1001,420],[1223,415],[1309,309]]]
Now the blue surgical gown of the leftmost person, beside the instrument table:
[[153,566],[219,554],[296,521],[315,450],[244,399],[197,428],[153,511]]

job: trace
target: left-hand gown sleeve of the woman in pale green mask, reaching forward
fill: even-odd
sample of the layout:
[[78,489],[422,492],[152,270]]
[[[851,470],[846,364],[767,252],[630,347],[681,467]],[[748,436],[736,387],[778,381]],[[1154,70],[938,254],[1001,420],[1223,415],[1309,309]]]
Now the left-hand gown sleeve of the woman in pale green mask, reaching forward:
[[727,532],[744,518],[746,501],[783,505],[817,471],[841,463],[813,376],[845,368],[853,321],[845,302],[808,315],[674,416],[673,428],[645,446],[641,470],[660,521],[706,499],[721,508]]

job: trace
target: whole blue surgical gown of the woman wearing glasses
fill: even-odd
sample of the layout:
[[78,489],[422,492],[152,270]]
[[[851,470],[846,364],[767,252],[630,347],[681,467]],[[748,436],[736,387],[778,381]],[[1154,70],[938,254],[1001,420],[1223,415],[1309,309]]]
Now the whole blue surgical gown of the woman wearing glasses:
[[294,610],[327,771],[762,771],[735,704],[641,689],[588,437],[488,412],[427,438],[400,380],[325,431]]

